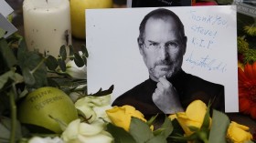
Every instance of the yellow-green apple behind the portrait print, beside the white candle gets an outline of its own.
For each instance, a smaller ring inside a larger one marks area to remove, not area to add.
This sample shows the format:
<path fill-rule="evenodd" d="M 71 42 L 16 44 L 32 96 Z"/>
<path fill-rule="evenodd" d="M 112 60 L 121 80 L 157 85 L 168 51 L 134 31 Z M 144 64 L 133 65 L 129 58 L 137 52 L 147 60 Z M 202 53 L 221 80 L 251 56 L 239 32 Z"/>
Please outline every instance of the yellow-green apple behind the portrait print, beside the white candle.
<path fill-rule="evenodd" d="M 72 36 L 85 38 L 85 9 L 111 7 L 112 0 L 70 0 Z"/>

